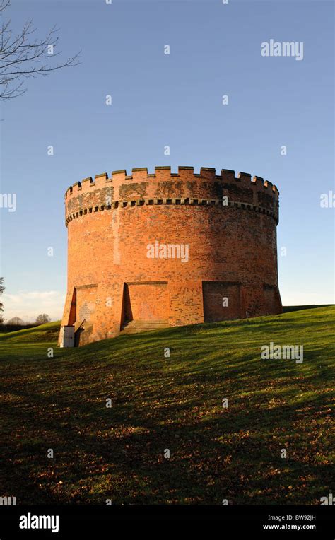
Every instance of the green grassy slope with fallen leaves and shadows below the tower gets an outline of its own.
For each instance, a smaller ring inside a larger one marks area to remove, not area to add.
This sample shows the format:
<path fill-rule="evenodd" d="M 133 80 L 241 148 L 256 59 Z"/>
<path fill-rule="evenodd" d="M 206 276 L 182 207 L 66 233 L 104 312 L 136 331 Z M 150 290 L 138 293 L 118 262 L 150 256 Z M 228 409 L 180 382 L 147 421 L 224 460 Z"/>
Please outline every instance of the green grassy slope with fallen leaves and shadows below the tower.
<path fill-rule="evenodd" d="M 319 504 L 334 493 L 334 315 L 322 307 L 76 349 L 57 348 L 57 323 L 1 334 L 0 495 Z M 303 363 L 261 360 L 270 341 L 303 344 Z"/>

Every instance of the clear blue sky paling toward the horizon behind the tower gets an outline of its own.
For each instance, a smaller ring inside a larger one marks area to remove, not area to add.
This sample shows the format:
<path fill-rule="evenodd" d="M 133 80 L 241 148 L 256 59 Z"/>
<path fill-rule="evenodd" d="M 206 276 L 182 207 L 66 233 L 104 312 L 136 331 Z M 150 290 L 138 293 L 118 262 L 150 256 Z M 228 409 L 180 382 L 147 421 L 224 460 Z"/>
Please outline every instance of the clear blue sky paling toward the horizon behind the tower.
<path fill-rule="evenodd" d="M 332 1 L 11 0 L 7 18 L 14 33 L 33 18 L 37 37 L 56 25 L 59 60 L 81 64 L 1 102 L 1 194 L 16 194 L 0 208 L 5 319 L 61 318 L 66 189 L 158 165 L 276 184 L 283 305 L 334 303 Z M 302 43 L 302 59 L 262 56 L 270 40 Z"/>

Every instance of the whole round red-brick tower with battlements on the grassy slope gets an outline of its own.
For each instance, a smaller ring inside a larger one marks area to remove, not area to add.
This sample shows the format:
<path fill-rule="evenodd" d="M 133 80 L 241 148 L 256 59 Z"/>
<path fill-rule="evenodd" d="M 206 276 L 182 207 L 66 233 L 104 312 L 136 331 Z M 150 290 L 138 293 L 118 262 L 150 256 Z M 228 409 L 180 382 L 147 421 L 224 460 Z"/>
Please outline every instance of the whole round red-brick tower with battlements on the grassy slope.
<path fill-rule="evenodd" d="M 146 168 L 67 189 L 62 326 L 75 343 L 282 311 L 278 190 L 232 170 Z"/>

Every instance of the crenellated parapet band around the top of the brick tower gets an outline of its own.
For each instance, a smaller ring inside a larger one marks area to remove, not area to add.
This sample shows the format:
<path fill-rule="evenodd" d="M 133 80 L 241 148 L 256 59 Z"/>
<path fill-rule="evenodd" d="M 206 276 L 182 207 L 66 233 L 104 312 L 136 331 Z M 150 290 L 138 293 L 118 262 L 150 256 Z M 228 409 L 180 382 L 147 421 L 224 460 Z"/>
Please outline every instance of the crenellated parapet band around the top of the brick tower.
<path fill-rule="evenodd" d="M 126 170 L 115 170 L 76 182 L 65 193 L 66 225 L 88 213 L 128 206 L 147 204 L 187 204 L 237 206 L 266 213 L 278 223 L 278 189 L 263 178 L 222 169 L 217 175 L 214 168 L 155 167 L 153 174 L 147 168 L 135 168 L 131 175 Z"/>

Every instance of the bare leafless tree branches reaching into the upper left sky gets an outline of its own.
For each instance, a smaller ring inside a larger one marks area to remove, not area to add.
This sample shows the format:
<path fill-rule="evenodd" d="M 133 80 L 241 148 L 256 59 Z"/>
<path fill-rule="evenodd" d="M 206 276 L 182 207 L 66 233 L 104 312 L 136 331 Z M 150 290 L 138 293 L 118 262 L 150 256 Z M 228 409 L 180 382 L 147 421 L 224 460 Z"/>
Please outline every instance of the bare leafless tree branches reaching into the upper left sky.
<path fill-rule="evenodd" d="M 0 100 L 17 98 L 27 90 L 25 79 L 47 75 L 63 67 L 79 64 L 79 53 L 66 61 L 53 64 L 61 52 L 54 52 L 59 30 L 53 27 L 44 39 L 35 37 L 33 20 L 28 20 L 17 35 L 11 30 L 11 20 L 4 22 L 3 11 L 11 0 L 0 0 Z"/>

